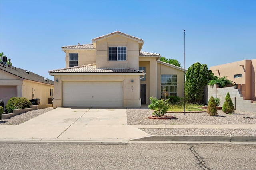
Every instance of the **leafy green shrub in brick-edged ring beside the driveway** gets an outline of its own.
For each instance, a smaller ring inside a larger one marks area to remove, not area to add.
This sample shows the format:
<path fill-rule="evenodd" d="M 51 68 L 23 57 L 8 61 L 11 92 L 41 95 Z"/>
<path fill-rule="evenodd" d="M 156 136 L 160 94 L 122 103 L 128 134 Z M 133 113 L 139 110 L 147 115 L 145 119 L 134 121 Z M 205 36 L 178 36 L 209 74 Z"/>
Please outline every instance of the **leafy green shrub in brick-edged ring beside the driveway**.
<path fill-rule="evenodd" d="M 156 115 L 157 117 L 163 117 L 169 109 L 169 99 L 164 100 L 150 97 L 150 101 L 151 104 L 148 105 L 148 108 L 154 110 L 153 115 Z"/>

